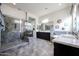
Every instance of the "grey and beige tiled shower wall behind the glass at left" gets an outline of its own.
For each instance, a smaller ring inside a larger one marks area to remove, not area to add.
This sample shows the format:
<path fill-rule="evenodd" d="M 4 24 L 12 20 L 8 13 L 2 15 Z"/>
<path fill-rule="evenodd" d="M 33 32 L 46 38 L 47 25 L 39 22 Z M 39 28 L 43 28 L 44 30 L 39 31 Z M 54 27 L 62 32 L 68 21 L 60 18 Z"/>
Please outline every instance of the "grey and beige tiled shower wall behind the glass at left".
<path fill-rule="evenodd" d="M 1 32 L 2 45 L 20 41 L 20 25 L 16 25 L 15 28 L 14 20 L 16 19 L 7 16 L 4 17 L 5 31 Z"/>

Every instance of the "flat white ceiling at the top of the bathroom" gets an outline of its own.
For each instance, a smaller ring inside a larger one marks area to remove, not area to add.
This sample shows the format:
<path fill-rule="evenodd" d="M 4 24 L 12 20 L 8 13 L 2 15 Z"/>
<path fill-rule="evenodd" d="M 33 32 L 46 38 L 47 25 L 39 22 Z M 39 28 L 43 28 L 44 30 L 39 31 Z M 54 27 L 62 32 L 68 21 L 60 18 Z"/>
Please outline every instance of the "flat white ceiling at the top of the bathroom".
<path fill-rule="evenodd" d="M 16 3 L 15 5 L 17 8 L 30 12 L 37 17 L 44 16 L 51 12 L 55 12 L 57 10 L 61 10 L 68 6 L 71 6 L 69 3 Z"/>

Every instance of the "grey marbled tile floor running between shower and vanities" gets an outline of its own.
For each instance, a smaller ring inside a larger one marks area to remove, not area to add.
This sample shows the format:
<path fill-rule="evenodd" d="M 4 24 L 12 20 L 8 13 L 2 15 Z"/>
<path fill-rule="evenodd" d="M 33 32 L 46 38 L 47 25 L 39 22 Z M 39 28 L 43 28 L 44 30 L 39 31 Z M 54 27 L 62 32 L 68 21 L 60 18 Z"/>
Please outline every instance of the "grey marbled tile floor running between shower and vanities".
<path fill-rule="evenodd" d="M 54 53 L 53 48 L 54 48 L 53 43 L 49 41 L 30 37 L 29 44 L 24 44 L 19 47 L 5 50 L 2 53 L 0 53 L 0 55 L 1 56 L 53 56 Z"/>

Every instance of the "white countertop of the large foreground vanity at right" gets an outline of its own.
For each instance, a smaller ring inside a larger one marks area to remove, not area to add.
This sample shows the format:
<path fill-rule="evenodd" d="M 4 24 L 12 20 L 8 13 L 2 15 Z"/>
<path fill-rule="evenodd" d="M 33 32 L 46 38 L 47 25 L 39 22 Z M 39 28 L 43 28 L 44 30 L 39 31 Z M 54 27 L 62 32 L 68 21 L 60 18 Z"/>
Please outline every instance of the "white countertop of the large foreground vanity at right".
<path fill-rule="evenodd" d="M 76 39 L 73 35 L 60 35 L 54 37 L 55 39 L 53 39 L 52 42 L 79 48 L 79 39 Z"/>

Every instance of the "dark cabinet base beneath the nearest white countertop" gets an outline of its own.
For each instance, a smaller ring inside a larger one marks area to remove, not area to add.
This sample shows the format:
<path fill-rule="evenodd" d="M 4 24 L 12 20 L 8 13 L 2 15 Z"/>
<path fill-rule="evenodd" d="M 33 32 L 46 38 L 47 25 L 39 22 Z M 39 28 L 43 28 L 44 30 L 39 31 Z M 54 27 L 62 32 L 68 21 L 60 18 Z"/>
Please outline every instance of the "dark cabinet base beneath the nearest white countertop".
<path fill-rule="evenodd" d="M 54 42 L 54 56 L 79 56 L 79 48 Z"/>

